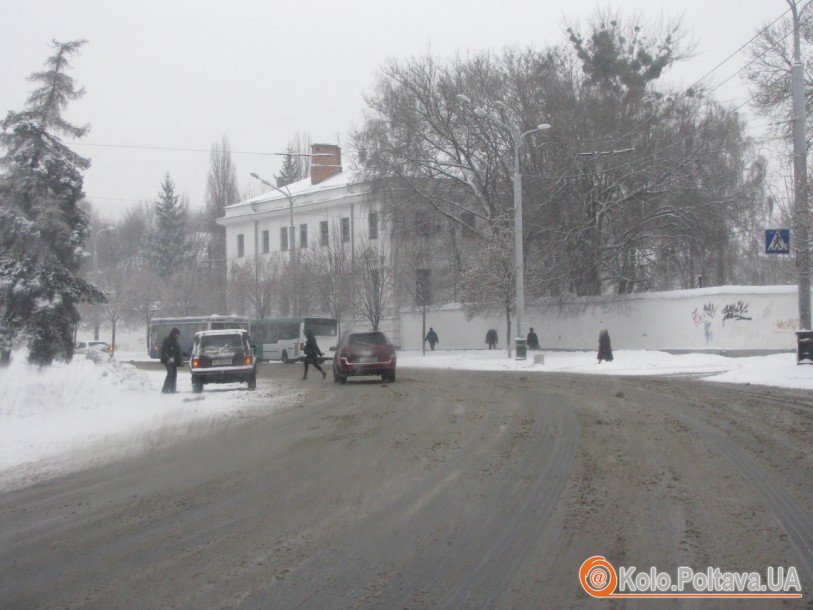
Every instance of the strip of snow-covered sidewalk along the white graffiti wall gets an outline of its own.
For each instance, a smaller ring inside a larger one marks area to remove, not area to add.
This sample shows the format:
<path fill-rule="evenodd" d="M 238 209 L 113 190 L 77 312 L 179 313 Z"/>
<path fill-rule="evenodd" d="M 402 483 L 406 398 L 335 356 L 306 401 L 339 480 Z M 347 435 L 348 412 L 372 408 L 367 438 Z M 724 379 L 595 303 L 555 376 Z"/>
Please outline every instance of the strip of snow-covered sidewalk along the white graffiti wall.
<path fill-rule="evenodd" d="M 536 354 L 544 364 L 535 364 Z M 405 351 L 398 366 L 476 371 L 538 371 L 589 375 L 682 375 L 707 381 L 813 389 L 813 366 L 797 365 L 796 354 L 730 358 L 716 354 L 669 354 L 655 350 L 613 350 L 612 362 L 596 361 L 596 352 L 529 352 L 527 360 L 502 350 Z"/>

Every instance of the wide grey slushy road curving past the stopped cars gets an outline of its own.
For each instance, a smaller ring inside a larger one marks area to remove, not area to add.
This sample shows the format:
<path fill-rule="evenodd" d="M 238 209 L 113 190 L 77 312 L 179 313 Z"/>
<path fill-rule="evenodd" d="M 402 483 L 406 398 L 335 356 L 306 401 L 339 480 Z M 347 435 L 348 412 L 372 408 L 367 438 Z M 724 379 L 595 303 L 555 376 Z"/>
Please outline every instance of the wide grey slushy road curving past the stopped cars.
<path fill-rule="evenodd" d="M 258 392 L 273 384 L 290 404 L 0 495 L 0 605 L 581 607 L 601 602 L 579 565 L 603 554 L 795 566 L 805 599 L 791 607 L 810 607 L 809 392 L 266 372 Z"/>

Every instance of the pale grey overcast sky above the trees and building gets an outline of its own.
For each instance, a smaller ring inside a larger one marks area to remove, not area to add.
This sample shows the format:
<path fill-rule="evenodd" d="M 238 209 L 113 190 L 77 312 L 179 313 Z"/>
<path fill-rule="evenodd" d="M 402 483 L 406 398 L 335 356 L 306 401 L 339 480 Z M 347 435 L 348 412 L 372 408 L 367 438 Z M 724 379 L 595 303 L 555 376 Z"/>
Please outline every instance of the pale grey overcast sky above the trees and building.
<path fill-rule="evenodd" d="M 284 151 L 297 131 L 346 144 L 385 59 L 558 44 L 566 24 L 608 6 L 653 23 L 682 16 L 695 56 L 670 78 L 684 85 L 788 9 L 784 0 L 3 0 L 0 112 L 23 107 L 51 39 L 87 39 L 71 72 L 87 92 L 67 116 L 91 125 L 73 147 L 92 160 L 88 198 L 116 216 L 153 201 L 169 172 L 197 207 L 208 150 L 223 135 L 243 191 L 250 172 L 270 179 L 279 168 L 279 158 L 252 153 Z M 706 84 L 743 64 L 741 52 Z M 749 95 L 736 76 L 715 96 Z M 753 131 L 766 122 L 756 118 Z"/>

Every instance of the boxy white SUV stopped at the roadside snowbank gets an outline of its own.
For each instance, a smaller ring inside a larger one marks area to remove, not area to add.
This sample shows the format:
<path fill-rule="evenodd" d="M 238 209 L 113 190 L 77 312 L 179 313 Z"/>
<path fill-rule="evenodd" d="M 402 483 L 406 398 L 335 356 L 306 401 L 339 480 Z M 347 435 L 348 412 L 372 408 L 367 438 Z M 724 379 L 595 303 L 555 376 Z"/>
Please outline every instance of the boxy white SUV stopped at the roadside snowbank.
<path fill-rule="evenodd" d="M 248 342 L 248 332 L 228 329 L 195 333 L 189 371 L 195 393 L 202 392 L 207 383 L 245 382 L 249 390 L 255 390 L 257 361 Z"/>

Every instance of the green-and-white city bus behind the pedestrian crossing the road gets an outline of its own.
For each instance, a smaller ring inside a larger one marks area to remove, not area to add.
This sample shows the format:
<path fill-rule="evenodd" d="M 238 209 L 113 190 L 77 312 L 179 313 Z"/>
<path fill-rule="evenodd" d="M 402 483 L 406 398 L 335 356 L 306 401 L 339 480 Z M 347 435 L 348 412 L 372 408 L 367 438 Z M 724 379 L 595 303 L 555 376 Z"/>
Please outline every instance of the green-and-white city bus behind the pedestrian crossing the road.
<path fill-rule="evenodd" d="M 257 360 L 299 362 L 305 359 L 305 333 L 311 331 L 324 358 L 333 358 L 339 337 L 336 318 L 263 318 L 251 321 Z"/>

